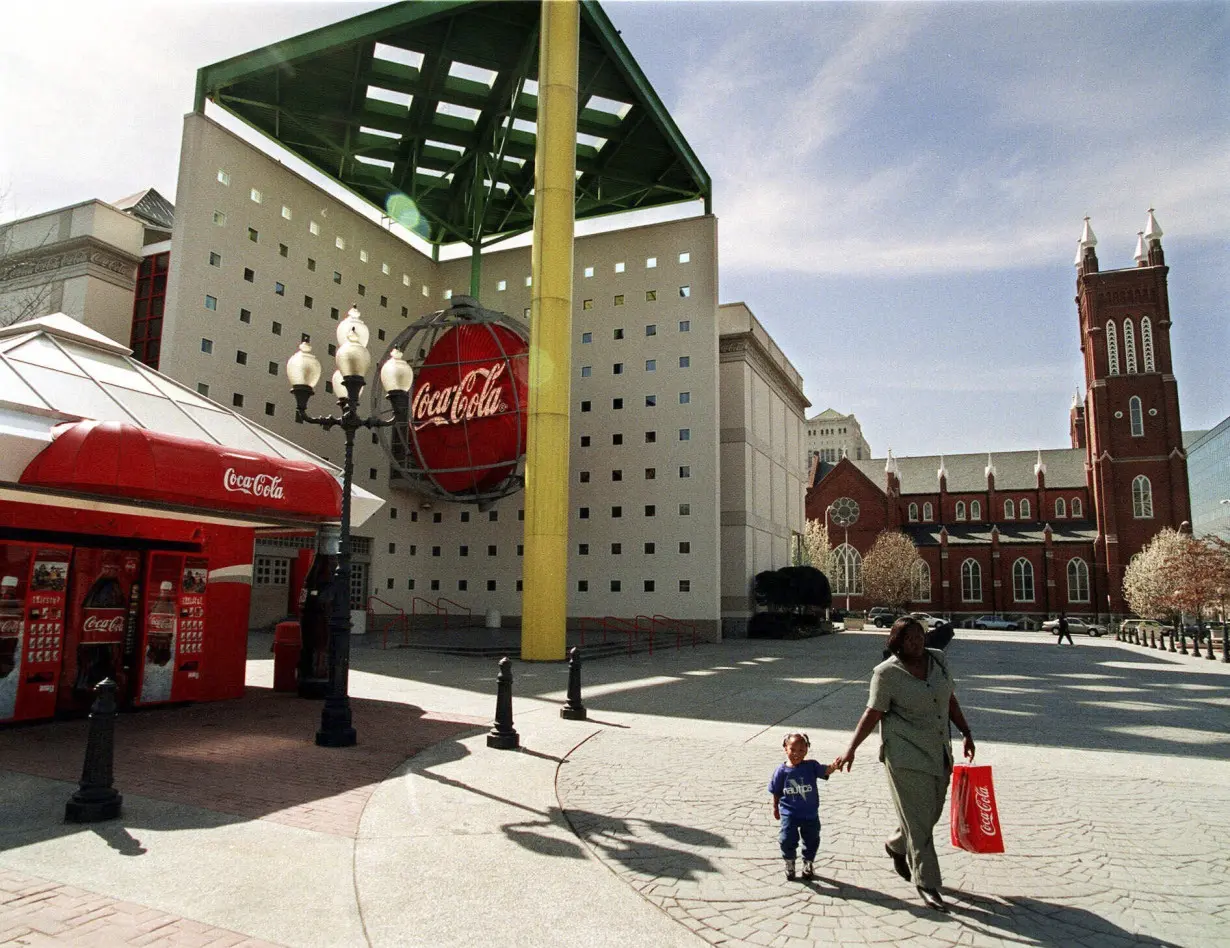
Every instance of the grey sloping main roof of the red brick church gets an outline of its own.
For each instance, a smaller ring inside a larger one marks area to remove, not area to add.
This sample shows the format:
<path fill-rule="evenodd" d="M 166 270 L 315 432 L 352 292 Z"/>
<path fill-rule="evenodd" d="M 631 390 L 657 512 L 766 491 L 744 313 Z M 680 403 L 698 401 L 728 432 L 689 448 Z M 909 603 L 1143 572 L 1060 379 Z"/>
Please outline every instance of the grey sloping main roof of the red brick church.
<path fill-rule="evenodd" d="M 1027 491 L 1037 487 L 1038 481 L 1033 466 L 1038 461 L 1038 451 L 993 452 L 995 462 L 996 491 Z M 1042 461 L 1047 466 L 1047 487 L 1066 488 L 1085 487 L 1085 450 L 1082 448 L 1057 448 L 1044 450 Z M 946 454 L 943 466 L 948 472 L 948 492 L 986 489 L 985 454 Z M 935 493 L 940 489 L 941 455 L 929 454 L 918 457 L 894 457 L 899 471 L 903 494 Z M 862 471 L 876 484 L 884 483 L 884 457 L 872 457 L 862 461 L 850 459 L 850 464 Z M 823 476 L 823 472 L 822 472 Z"/>

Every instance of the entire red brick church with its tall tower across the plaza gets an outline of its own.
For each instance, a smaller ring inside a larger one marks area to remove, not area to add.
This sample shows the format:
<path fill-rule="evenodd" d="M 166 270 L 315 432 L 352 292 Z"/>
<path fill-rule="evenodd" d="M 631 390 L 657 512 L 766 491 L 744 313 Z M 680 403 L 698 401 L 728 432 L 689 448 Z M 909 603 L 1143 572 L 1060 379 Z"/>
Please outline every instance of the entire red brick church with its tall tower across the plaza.
<path fill-rule="evenodd" d="M 1103 272 L 1085 219 L 1085 401 L 1073 398 L 1071 448 L 813 462 L 807 516 L 828 520 L 835 596 L 876 605 L 861 595 L 862 557 L 879 531 L 899 529 L 922 557 L 914 610 L 957 621 L 1129 611 L 1128 561 L 1192 516 L 1161 235 L 1150 209 L 1137 266 Z"/>

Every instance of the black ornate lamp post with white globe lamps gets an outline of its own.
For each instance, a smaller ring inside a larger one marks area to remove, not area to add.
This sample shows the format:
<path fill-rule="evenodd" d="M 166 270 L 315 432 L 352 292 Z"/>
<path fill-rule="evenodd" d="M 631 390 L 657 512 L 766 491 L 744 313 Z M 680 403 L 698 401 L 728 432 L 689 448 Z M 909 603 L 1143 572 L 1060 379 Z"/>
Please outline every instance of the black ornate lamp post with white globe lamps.
<path fill-rule="evenodd" d="M 311 346 L 299 343 L 299 350 L 287 360 L 287 379 L 295 396 L 295 421 L 319 424 L 326 432 L 341 425 L 346 433 L 346 461 L 342 465 L 342 534 L 333 583 L 333 610 L 328 620 L 328 691 L 320 716 L 316 743 L 322 748 L 348 748 L 355 743 L 351 723 L 351 487 L 354 481 L 354 433 L 359 428 L 403 427 L 410 422 L 410 386 L 415 373 L 399 349 L 392 349 L 380 366 L 380 384 L 392 407 L 392 417 L 359 416 L 359 396 L 371 368 L 368 352 L 368 327 L 355 307 L 337 326 L 337 355 L 333 360 L 333 395 L 338 416 L 310 416 L 308 402 L 316 392 L 321 366 Z"/>

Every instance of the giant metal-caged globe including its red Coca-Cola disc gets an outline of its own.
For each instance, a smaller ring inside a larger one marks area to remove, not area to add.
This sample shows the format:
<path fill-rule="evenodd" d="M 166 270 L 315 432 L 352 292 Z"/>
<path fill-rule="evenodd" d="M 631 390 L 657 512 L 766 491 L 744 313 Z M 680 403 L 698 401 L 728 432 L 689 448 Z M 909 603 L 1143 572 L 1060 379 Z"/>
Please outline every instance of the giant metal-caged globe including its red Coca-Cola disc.
<path fill-rule="evenodd" d="M 389 352 L 395 348 L 415 369 L 408 427 L 380 429 L 395 482 L 474 503 L 520 489 L 529 392 L 524 330 L 458 296 L 406 328 Z M 376 384 L 374 407 L 383 395 Z"/>

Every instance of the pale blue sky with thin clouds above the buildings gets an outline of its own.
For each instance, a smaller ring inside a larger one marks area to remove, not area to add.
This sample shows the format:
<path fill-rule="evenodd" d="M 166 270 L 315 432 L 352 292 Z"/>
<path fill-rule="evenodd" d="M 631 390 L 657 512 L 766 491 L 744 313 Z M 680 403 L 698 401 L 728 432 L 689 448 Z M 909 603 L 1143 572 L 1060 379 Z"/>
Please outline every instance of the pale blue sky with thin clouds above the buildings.
<path fill-rule="evenodd" d="M 175 197 L 196 70 L 364 2 L 6 9 L 0 220 Z M 1230 414 L 1230 2 L 604 9 L 713 180 L 720 295 L 876 456 L 1069 444 L 1073 258 L 1165 231 L 1184 429 Z"/>

